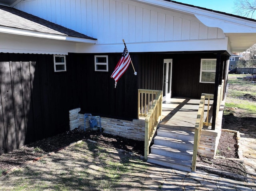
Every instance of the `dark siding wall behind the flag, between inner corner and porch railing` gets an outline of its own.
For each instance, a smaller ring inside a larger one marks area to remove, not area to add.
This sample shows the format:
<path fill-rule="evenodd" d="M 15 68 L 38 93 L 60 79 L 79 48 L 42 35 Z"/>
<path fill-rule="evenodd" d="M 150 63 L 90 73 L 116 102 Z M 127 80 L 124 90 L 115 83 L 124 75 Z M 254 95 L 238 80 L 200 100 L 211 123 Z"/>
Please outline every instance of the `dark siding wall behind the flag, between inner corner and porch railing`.
<path fill-rule="evenodd" d="M 98 54 L 97 54 L 98 55 Z M 74 108 L 95 115 L 132 120 L 137 117 L 137 78 L 128 67 L 115 88 L 110 78 L 121 54 L 108 55 L 109 71 L 94 71 L 94 54 L 69 54 L 68 79 Z M 71 84 L 72 83 L 72 84 Z"/>

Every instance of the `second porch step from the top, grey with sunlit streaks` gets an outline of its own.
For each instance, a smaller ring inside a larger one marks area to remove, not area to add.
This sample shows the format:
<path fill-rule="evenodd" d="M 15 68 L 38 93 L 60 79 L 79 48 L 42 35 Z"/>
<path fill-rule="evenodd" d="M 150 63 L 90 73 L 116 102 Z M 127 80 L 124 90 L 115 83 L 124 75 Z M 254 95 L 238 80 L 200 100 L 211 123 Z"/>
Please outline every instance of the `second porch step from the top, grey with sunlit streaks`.
<path fill-rule="evenodd" d="M 156 136 L 154 138 L 154 144 L 171 147 L 171 148 L 182 148 L 186 150 L 193 150 L 194 141 L 191 140 L 180 140 L 175 138 Z"/>

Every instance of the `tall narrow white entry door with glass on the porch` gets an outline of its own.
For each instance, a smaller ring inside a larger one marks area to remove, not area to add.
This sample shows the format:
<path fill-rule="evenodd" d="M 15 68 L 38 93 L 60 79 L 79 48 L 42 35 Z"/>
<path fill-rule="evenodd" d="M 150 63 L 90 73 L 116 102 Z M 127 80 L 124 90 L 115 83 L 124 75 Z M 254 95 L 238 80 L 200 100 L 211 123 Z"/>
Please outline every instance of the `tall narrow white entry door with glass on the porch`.
<path fill-rule="evenodd" d="M 163 74 L 163 102 L 171 98 L 172 94 L 172 59 L 164 59 Z"/>

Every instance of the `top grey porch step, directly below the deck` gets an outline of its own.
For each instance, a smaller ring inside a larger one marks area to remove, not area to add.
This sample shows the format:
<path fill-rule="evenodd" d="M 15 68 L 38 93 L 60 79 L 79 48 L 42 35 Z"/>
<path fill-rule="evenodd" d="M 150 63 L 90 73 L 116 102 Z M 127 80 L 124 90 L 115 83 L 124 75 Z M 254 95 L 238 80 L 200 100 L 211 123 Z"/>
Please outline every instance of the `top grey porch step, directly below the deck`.
<path fill-rule="evenodd" d="M 174 130 L 170 128 L 160 127 L 157 129 L 157 135 L 162 137 L 176 138 L 180 140 L 194 140 L 195 132 L 184 131 L 184 130 Z"/>

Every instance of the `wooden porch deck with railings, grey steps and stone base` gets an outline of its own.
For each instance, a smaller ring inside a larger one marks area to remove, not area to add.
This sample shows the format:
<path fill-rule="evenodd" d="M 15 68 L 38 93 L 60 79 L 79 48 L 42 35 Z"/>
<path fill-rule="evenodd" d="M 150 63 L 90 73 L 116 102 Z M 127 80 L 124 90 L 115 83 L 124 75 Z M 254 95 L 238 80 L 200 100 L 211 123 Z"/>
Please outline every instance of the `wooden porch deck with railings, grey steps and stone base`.
<path fill-rule="evenodd" d="M 195 171 L 197 154 L 214 158 L 221 132 L 223 83 L 218 88 L 214 129 L 212 94 L 202 94 L 201 99 L 175 97 L 162 102 L 162 91 L 139 90 L 138 98 L 139 118 L 145 118 L 145 159 Z"/>

